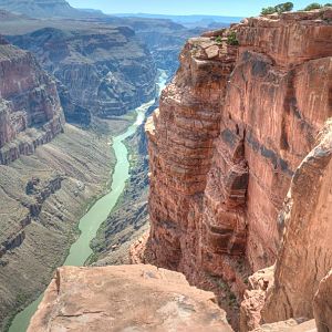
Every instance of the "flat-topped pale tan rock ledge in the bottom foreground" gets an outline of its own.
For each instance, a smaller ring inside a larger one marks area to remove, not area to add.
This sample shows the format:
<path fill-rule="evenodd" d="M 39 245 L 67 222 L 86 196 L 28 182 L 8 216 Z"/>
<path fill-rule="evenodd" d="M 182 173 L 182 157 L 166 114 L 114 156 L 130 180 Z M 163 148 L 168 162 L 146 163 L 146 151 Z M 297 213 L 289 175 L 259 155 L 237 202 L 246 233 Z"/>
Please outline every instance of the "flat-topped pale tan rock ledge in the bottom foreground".
<path fill-rule="evenodd" d="M 28 329 L 53 330 L 232 331 L 212 293 L 152 266 L 58 269 Z"/>

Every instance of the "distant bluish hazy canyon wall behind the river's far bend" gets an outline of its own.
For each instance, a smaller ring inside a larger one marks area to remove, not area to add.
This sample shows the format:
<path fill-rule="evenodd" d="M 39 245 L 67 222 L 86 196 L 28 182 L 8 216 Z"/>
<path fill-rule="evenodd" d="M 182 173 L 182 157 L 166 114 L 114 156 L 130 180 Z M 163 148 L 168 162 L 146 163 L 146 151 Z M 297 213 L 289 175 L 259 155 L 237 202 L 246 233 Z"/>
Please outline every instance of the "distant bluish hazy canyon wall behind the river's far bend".
<path fill-rule="evenodd" d="M 84 110 L 100 117 L 122 115 L 155 96 L 154 61 L 129 28 L 64 25 L 9 39 L 56 77 L 68 120 L 77 122 Z"/>

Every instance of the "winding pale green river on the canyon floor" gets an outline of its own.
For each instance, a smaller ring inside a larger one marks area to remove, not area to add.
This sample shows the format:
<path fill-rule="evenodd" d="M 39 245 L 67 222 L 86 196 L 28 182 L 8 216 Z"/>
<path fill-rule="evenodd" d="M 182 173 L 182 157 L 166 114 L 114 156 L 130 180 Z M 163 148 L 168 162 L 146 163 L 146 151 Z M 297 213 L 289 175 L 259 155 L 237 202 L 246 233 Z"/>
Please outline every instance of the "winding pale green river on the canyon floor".
<path fill-rule="evenodd" d="M 165 87 L 167 74 L 159 70 L 159 79 L 157 83 L 158 94 Z M 118 136 L 113 137 L 113 149 L 116 157 L 116 165 L 112 178 L 112 187 L 108 194 L 100 198 L 91 209 L 81 218 L 79 229 L 81 235 L 72 245 L 64 266 L 82 267 L 86 259 L 93 253 L 90 242 L 95 238 L 101 225 L 106 220 L 113 207 L 116 205 L 118 197 L 124 190 L 125 183 L 129 177 L 128 152 L 123 141 L 133 135 L 137 127 L 144 122 L 146 111 L 154 104 L 155 100 L 137 107 L 136 121 L 127 131 Z M 38 309 L 43 298 L 43 293 L 23 311 L 19 312 L 12 321 L 9 332 L 25 332 L 30 319 Z"/>

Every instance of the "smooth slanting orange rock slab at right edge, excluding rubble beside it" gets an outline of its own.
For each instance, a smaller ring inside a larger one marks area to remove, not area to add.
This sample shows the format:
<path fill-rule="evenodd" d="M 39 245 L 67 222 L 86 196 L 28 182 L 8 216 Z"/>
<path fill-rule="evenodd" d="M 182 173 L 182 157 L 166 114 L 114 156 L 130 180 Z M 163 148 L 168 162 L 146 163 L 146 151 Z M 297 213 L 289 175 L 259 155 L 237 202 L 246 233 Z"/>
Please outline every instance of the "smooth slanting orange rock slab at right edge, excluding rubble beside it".
<path fill-rule="evenodd" d="M 274 286 L 262 312 L 264 321 L 313 315 L 314 294 L 332 267 L 331 188 L 332 120 L 292 179 L 282 211 L 286 232 L 276 264 Z M 325 281 L 326 284 L 329 282 Z M 320 288 L 320 298 L 326 298 L 328 310 L 331 293 L 324 291 L 328 287 Z M 323 317 L 324 305 L 317 307 L 317 315 Z M 324 320 L 319 321 L 323 323 Z"/>

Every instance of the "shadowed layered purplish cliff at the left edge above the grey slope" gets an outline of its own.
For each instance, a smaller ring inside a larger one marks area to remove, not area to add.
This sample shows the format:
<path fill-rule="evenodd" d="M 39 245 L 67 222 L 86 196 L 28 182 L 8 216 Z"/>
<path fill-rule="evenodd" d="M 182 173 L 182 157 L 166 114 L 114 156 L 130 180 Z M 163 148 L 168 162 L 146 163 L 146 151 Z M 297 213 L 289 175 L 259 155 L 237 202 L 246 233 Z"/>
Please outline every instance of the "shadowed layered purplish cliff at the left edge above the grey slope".
<path fill-rule="evenodd" d="M 55 83 L 30 53 L 0 39 L 0 164 L 32 154 L 63 123 Z"/>

